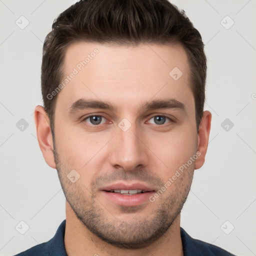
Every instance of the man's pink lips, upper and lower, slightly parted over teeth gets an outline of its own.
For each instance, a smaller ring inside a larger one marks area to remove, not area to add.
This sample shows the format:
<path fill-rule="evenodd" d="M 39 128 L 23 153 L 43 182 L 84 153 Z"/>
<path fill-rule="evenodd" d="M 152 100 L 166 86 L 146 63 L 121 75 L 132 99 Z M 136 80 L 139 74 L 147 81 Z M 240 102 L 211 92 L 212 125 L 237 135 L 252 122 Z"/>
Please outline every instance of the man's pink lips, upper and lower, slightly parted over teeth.
<path fill-rule="evenodd" d="M 124 189 L 124 190 L 133 190 L 133 189 L 141 189 L 145 190 L 143 193 L 137 193 L 137 194 L 121 194 L 121 193 L 115 193 L 110 192 L 112 189 Z M 105 187 L 100 188 L 100 191 L 102 192 L 103 196 L 115 204 L 123 205 L 123 206 L 138 206 L 144 202 L 149 202 L 149 196 L 152 195 L 155 191 L 155 189 L 150 188 L 146 184 L 143 183 L 114 183 Z"/>

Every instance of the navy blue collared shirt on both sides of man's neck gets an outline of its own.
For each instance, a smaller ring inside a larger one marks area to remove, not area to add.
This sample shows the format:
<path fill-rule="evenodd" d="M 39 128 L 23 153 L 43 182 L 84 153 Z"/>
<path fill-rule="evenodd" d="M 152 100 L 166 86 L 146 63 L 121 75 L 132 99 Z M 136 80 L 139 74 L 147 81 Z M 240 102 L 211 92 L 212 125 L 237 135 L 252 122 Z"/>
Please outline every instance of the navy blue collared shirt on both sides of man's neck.
<path fill-rule="evenodd" d="M 50 240 L 37 244 L 15 256 L 67 256 L 64 245 L 65 225 L 66 220 L 64 219 Z M 234 256 L 220 247 L 192 238 L 182 227 L 180 227 L 180 235 L 184 256 Z"/>

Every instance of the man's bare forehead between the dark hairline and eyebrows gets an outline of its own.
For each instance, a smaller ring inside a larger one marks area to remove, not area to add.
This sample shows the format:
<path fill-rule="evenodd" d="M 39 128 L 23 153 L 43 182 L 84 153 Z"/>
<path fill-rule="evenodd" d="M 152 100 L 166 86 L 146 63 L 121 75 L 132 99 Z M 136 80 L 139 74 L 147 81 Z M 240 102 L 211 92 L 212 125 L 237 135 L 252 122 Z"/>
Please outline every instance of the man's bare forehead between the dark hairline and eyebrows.
<path fill-rule="evenodd" d="M 79 98 L 134 106 L 134 111 L 141 102 L 170 97 L 193 106 L 188 58 L 179 44 L 76 42 L 66 49 L 63 70 L 57 101 L 66 110 Z"/>

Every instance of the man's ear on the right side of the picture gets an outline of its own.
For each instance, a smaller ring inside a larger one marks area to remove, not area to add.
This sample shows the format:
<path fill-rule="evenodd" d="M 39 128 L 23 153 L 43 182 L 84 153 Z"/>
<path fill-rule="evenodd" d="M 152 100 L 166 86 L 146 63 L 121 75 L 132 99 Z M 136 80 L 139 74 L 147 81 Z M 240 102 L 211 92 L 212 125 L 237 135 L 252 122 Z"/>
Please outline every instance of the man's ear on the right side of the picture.
<path fill-rule="evenodd" d="M 197 135 L 197 151 L 198 157 L 195 160 L 195 169 L 199 169 L 205 160 L 205 154 L 208 147 L 209 133 L 210 133 L 210 122 L 211 113 L 209 111 L 204 111 L 203 116 L 199 125 L 198 135 Z"/>

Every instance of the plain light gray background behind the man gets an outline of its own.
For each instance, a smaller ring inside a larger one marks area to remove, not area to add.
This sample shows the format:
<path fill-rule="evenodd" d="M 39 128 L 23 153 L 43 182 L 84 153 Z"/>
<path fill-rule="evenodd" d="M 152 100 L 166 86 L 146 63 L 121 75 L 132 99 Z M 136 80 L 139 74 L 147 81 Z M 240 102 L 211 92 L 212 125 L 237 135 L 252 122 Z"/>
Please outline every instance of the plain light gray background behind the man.
<path fill-rule="evenodd" d="M 49 240 L 65 218 L 65 198 L 39 149 L 33 110 L 42 105 L 42 42 L 53 19 L 74 2 L 0 0 L 0 255 Z M 206 161 L 195 170 L 181 226 L 234 254 L 256 255 L 256 1 L 172 2 L 206 44 L 205 110 L 212 113 Z M 15 23 L 21 15 L 29 21 L 24 29 Z M 28 123 L 23 131 L 16 127 L 21 118 Z M 234 124 L 228 131 L 221 126 L 226 118 Z M 21 220 L 29 226 L 23 235 L 15 228 Z"/>

